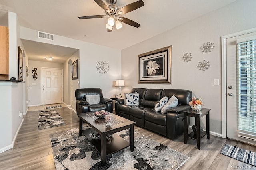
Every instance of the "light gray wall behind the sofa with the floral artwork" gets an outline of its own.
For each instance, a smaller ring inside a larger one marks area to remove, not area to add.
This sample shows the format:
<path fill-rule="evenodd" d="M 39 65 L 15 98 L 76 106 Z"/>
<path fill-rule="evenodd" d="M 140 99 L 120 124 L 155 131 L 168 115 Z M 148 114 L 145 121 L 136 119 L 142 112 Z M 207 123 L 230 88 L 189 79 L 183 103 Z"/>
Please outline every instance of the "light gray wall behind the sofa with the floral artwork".
<path fill-rule="evenodd" d="M 126 86 L 122 91 L 128 92 L 133 87 L 189 89 L 197 97 L 202 97 L 203 107 L 212 109 L 210 131 L 220 135 L 222 133 L 221 36 L 256 27 L 255 7 L 255 0 L 239 0 L 123 49 L 122 79 L 126 82 Z M 168 22 L 171 20 L 172 18 Z M 213 42 L 215 45 L 210 53 L 203 53 L 200 50 L 206 42 Z M 169 45 L 172 45 L 172 84 L 138 84 L 138 55 Z M 192 61 L 187 63 L 182 60 L 185 53 L 192 53 Z M 203 60 L 209 61 L 211 65 L 206 71 L 197 68 L 198 63 Z M 214 79 L 219 79 L 220 85 L 214 85 Z M 202 120 L 205 128 L 205 119 Z"/>

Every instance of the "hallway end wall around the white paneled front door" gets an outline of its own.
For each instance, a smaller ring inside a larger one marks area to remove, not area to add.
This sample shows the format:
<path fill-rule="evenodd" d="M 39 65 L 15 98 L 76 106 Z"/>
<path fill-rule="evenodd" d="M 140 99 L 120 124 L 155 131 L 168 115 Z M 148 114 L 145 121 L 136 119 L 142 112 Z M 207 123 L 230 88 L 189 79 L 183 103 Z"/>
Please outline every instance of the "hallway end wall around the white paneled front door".
<path fill-rule="evenodd" d="M 29 103 L 28 106 L 35 106 L 35 105 L 41 105 L 41 67 L 47 67 L 47 68 L 58 68 L 63 69 L 62 63 L 52 63 L 52 62 L 42 62 L 42 61 L 28 61 L 28 69 L 29 69 L 29 89 L 28 90 L 28 99 Z M 32 70 L 34 68 L 37 68 L 37 79 L 34 80 L 32 77 Z M 36 83 L 36 85 L 32 85 L 32 83 Z"/>

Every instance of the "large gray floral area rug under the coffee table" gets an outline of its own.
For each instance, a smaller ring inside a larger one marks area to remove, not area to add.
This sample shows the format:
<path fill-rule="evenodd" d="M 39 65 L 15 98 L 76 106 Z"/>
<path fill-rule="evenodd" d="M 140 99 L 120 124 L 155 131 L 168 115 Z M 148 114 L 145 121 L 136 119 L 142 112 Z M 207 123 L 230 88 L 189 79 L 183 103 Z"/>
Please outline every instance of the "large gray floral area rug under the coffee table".
<path fill-rule="evenodd" d="M 56 170 L 176 170 L 189 158 L 134 132 L 134 152 L 128 147 L 109 155 L 106 166 L 102 167 L 100 153 L 78 133 L 79 130 L 74 128 L 50 134 Z M 117 134 L 129 142 L 129 131 Z"/>

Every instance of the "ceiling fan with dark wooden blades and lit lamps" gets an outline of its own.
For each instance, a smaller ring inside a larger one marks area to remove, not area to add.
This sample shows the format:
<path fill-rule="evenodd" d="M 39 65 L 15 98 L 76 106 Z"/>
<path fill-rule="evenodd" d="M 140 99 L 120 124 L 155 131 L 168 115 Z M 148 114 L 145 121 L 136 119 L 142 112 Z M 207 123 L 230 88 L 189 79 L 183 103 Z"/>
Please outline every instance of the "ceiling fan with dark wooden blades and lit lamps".
<path fill-rule="evenodd" d="M 116 6 L 117 0 L 109 0 L 111 5 L 106 5 L 102 0 L 94 0 L 102 9 L 105 10 L 106 15 L 92 15 L 92 16 L 80 16 L 79 19 L 90 19 L 90 18 L 108 18 L 108 22 L 106 24 L 106 28 L 108 32 L 111 32 L 114 28 L 114 25 L 116 25 L 116 29 L 122 28 L 121 22 L 128 24 L 130 26 L 139 27 L 140 24 L 138 24 L 135 21 L 132 21 L 128 18 L 124 18 L 120 15 L 126 14 L 128 12 L 131 12 L 133 10 L 136 10 L 142 6 L 144 6 L 144 2 L 142 0 L 133 2 L 131 4 L 128 4 L 122 8 L 119 8 Z"/>

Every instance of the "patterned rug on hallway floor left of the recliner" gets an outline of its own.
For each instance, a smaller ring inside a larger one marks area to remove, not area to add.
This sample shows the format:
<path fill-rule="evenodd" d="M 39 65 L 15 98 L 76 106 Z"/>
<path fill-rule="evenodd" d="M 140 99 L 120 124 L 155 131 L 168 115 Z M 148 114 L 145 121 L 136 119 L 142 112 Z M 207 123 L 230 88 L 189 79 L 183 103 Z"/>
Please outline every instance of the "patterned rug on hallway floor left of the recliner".
<path fill-rule="evenodd" d="M 38 130 L 65 125 L 57 110 L 47 110 L 39 112 Z"/>

